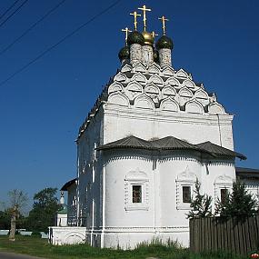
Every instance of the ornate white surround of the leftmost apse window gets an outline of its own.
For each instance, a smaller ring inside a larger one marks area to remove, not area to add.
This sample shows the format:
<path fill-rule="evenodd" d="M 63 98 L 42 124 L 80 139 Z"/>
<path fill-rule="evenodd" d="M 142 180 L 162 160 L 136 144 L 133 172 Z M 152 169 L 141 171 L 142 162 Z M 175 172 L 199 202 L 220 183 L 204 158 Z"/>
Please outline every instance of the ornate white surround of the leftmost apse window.
<path fill-rule="evenodd" d="M 142 203 L 133 203 L 133 186 L 141 185 Z M 125 175 L 125 210 L 145 210 L 149 208 L 149 179 L 147 174 L 136 168 Z"/>

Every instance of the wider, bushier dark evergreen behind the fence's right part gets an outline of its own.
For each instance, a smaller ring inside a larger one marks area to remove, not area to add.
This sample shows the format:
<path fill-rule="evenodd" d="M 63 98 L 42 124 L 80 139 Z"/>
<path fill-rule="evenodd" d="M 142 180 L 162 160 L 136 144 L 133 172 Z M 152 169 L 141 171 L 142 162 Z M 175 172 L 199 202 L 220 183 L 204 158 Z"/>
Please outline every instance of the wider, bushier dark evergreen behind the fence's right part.
<path fill-rule="evenodd" d="M 233 191 L 227 194 L 224 201 L 218 200 L 215 205 L 215 214 L 224 217 L 244 218 L 256 214 L 256 200 L 246 189 L 244 183 L 233 183 Z"/>

